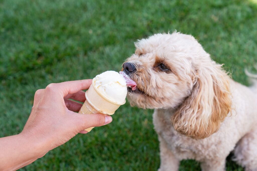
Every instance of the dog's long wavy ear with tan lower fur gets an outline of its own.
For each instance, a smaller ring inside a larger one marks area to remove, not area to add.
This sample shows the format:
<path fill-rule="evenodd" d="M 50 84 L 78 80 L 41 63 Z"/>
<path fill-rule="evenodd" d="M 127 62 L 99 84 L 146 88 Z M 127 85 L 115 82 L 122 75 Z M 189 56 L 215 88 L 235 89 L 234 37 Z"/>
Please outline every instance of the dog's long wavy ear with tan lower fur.
<path fill-rule="evenodd" d="M 172 116 L 179 133 L 194 139 L 209 137 L 230 112 L 229 77 L 221 66 L 212 61 L 194 72 L 191 94 Z"/>

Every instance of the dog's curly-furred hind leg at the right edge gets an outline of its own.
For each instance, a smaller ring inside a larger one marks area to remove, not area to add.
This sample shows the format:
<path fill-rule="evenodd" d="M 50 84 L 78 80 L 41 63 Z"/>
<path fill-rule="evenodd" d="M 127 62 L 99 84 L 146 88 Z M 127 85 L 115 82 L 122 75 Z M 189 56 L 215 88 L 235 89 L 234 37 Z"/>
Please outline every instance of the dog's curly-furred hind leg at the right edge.
<path fill-rule="evenodd" d="M 234 160 L 245 167 L 246 171 L 257 171 L 257 127 L 241 138 L 234 155 Z"/>

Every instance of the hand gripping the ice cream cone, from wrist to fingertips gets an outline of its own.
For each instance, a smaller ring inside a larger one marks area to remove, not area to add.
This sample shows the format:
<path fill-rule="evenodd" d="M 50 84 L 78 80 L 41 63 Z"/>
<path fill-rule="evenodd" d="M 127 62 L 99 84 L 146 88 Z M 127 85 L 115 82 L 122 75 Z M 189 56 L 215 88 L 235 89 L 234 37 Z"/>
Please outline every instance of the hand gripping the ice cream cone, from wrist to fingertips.
<path fill-rule="evenodd" d="M 42 156 L 76 134 L 87 133 L 86 128 L 112 122 L 109 115 L 76 113 L 82 104 L 69 98 L 85 102 L 82 90 L 88 89 L 91 83 L 91 79 L 52 83 L 36 91 L 31 114 L 21 135 L 38 140 Z"/>

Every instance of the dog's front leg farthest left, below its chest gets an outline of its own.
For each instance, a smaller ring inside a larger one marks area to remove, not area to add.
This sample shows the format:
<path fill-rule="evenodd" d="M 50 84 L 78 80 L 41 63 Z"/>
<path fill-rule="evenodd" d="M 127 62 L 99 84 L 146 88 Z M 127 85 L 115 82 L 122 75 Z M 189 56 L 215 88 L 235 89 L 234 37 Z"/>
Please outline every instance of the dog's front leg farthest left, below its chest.
<path fill-rule="evenodd" d="M 174 156 L 171 150 L 167 147 L 165 140 L 158 136 L 160 141 L 160 157 L 161 165 L 158 171 L 177 171 L 179 168 L 179 160 Z"/>

